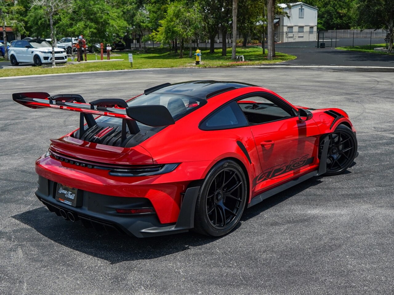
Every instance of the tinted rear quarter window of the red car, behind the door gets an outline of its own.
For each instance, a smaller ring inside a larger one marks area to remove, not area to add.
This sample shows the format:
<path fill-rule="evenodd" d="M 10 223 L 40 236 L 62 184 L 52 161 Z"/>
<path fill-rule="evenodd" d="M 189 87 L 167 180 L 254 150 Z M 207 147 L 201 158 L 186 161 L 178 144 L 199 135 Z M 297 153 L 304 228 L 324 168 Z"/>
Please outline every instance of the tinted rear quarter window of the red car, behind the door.
<path fill-rule="evenodd" d="M 220 130 L 249 125 L 235 101 L 221 107 L 204 119 L 200 124 L 202 130 Z"/>

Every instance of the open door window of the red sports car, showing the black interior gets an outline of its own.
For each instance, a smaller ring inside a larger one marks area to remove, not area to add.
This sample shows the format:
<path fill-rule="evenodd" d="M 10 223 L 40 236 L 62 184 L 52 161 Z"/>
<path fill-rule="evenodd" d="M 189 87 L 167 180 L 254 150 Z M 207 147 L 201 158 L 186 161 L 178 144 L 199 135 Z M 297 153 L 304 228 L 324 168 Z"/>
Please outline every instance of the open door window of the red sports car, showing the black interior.
<path fill-rule="evenodd" d="M 269 96 L 253 96 L 238 100 L 249 124 L 262 124 L 284 118 L 293 117 L 293 111 L 290 106 L 277 103 L 275 99 Z"/>

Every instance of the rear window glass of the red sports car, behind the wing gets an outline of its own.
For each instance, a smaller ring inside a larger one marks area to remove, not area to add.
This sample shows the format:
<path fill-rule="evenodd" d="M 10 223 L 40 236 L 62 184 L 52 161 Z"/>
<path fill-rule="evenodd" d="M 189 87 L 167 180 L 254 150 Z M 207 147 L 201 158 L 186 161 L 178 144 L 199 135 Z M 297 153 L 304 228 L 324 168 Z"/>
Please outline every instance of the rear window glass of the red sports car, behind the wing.
<path fill-rule="evenodd" d="M 141 94 L 127 103 L 129 107 L 134 107 L 137 105 L 164 105 L 170 112 L 171 116 L 174 118 L 174 121 L 177 121 L 187 114 L 190 114 L 204 104 L 206 104 L 206 100 L 201 98 L 170 93 Z M 101 116 L 97 119 L 97 122 L 120 125 L 121 119 Z M 149 129 L 154 129 L 154 127 L 149 127 L 139 122 L 137 122 L 137 124 L 144 129 L 147 129 L 147 127 Z"/>

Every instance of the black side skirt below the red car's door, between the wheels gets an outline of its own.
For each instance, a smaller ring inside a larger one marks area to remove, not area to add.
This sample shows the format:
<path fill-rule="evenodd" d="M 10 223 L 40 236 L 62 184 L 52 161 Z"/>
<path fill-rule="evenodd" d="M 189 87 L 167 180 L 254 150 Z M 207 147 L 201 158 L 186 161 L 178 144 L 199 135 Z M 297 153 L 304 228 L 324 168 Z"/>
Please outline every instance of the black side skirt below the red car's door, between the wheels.
<path fill-rule="evenodd" d="M 327 171 L 327 161 L 322 160 L 322 159 L 325 159 L 325 157 L 328 153 L 328 146 L 329 146 L 329 140 L 325 140 L 324 144 L 323 144 L 322 158 L 320 159 L 320 164 L 319 164 L 318 170 L 304 174 L 296 179 L 292 179 L 292 180 L 288 181 L 287 183 L 276 186 L 275 188 L 271 188 L 271 190 L 268 190 L 260 195 L 256 195 L 256 197 L 251 199 L 251 201 L 247 205 L 247 207 L 249 208 L 253 205 L 256 205 L 256 204 L 260 203 L 261 201 L 263 201 L 275 194 L 278 194 L 284 190 L 287 190 L 288 188 L 291 188 L 292 186 L 295 186 L 296 184 L 302 183 L 303 181 L 310 179 L 311 177 L 315 177 L 315 176 L 319 176 L 319 175 L 324 174 Z"/>

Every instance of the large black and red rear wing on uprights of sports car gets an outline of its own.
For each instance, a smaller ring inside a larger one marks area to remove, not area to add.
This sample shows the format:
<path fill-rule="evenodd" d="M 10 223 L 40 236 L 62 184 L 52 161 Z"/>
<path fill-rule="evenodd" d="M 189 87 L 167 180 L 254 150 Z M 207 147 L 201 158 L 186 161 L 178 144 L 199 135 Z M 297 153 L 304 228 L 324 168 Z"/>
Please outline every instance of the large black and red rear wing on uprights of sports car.
<path fill-rule="evenodd" d="M 89 127 L 96 124 L 93 116 L 108 116 L 122 119 L 122 138 L 126 138 L 126 125 L 131 134 L 137 134 L 136 123 L 160 127 L 175 124 L 173 117 L 164 105 L 140 105 L 128 107 L 122 99 L 109 98 L 86 103 L 79 94 L 57 94 L 46 92 L 21 92 L 12 94 L 12 99 L 32 109 L 52 108 L 80 112 L 80 132 L 84 134 L 85 121 Z"/>

